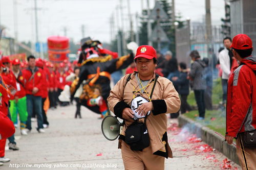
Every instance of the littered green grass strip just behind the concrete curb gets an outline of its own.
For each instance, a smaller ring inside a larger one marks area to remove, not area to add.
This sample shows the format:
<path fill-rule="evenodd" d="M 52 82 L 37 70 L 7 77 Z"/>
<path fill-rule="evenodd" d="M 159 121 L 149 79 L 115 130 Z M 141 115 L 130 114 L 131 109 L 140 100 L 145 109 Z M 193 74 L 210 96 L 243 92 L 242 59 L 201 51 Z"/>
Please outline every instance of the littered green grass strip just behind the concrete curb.
<path fill-rule="evenodd" d="M 221 110 L 206 110 L 204 120 L 196 119 L 198 116 L 197 110 L 190 111 L 183 115 L 225 136 L 226 117 Z"/>

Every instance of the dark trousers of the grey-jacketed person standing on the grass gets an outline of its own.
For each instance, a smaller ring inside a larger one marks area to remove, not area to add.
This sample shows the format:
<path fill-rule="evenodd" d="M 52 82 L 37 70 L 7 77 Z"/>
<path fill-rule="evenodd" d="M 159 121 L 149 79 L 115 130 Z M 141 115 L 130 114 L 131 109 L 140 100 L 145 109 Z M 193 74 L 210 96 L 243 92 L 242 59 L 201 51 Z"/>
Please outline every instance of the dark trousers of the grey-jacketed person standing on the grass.
<path fill-rule="evenodd" d="M 199 117 L 204 117 L 205 115 L 204 90 L 194 90 L 194 93 L 197 101 Z"/>

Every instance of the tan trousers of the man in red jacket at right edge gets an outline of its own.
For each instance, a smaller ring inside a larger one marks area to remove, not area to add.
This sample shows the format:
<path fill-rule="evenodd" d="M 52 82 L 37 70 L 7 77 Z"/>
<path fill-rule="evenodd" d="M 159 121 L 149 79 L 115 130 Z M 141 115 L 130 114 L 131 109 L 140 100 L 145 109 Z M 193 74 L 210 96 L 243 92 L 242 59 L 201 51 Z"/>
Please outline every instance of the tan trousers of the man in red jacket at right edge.
<path fill-rule="evenodd" d="M 256 148 L 244 148 L 241 135 L 238 135 L 236 139 L 237 143 L 237 155 L 240 165 L 243 170 L 255 170 L 256 169 Z M 244 151 L 242 151 L 244 150 Z"/>

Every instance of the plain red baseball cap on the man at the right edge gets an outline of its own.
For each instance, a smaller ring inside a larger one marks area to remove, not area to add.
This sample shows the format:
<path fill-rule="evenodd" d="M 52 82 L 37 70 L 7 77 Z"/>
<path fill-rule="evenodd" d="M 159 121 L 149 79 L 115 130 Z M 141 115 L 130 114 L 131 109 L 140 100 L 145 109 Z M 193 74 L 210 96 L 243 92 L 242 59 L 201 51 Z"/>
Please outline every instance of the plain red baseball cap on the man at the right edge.
<path fill-rule="evenodd" d="M 238 34 L 234 36 L 230 48 L 236 48 L 237 50 L 247 50 L 252 48 L 252 41 L 246 34 Z"/>

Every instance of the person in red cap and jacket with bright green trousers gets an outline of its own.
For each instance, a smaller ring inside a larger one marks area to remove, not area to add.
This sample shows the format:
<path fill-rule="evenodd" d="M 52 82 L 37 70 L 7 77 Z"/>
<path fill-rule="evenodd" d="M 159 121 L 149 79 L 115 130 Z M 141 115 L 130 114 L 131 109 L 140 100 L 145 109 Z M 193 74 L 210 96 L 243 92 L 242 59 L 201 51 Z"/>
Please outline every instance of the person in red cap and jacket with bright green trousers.
<path fill-rule="evenodd" d="M 28 118 L 27 112 L 27 98 L 26 91 L 24 88 L 25 79 L 20 70 L 20 61 L 15 59 L 12 61 L 12 70 L 16 79 L 17 92 L 14 94 L 14 100 L 10 100 L 10 113 L 12 122 L 17 125 L 17 113 L 19 114 L 20 120 L 20 133 L 22 135 L 27 135 L 26 122 Z"/>

